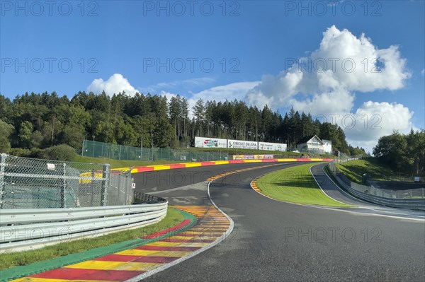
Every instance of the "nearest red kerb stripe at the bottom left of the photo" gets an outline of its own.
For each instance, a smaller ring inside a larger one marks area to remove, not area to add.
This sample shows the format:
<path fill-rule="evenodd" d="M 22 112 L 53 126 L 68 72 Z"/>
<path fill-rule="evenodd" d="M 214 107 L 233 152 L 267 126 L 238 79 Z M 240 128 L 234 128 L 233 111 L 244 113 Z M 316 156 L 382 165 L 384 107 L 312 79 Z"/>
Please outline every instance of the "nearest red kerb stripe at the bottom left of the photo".
<path fill-rule="evenodd" d="M 145 271 L 126 271 L 126 270 L 97 270 L 97 269 L 53 269 L 50 271 L 35 274 L 30 277 L 45 279 L 66 279 L 66 280 L 107 280 L 107 281 L 125 281 Z"/>

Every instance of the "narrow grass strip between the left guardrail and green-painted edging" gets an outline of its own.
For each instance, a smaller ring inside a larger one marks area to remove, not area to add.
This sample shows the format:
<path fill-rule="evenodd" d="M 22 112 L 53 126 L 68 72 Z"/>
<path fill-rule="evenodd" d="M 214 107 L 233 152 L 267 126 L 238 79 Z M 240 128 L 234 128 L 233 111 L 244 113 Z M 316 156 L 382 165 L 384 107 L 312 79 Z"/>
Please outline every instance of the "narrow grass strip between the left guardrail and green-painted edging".
<path fill-rule="evenodd" d="M 103 235 L 101 237 L 89 238 L 62 242 L 57 245 L 47 246 L 25 252 L 13 252 L 0 254 L 0 269 L 8 269 L 13 266 L 22 266 L 33 262 L 42 262 L 47 259 L 76 254 L 89 249 L 113 245 L 119 242 L 134 240 L 149 234 L 166 230 L 183 222 L 184 216 L 179 211 L 169 208 L 166 217 L 159 223 L 148 225 L 142 228 L 120 231 Z"/>

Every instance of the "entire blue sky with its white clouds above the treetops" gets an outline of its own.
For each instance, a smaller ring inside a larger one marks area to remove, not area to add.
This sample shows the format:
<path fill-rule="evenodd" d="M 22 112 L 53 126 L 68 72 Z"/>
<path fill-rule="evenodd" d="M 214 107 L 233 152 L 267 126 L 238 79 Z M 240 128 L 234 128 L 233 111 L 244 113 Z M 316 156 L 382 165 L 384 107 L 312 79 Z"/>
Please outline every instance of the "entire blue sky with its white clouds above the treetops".
<path fill-rule="evenodd" d="M 334 117 L 348 141 L 371 148 L 393 129 L 425 128 L 424 3 L 1 1 L 0 92 L 294 106 Z M 296 64 L 303 57 L 311 71 Z"/>

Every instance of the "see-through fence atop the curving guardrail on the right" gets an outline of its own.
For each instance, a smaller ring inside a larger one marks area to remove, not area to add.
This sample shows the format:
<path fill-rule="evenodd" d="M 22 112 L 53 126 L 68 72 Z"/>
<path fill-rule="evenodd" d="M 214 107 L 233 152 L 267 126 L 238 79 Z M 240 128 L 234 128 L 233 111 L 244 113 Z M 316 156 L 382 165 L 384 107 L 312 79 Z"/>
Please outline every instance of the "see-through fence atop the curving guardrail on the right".
<path fill-rule="evenodd" d="M 338 168 L 336 168 L 336 165 L 334 162 L 329 163 L 328 168 L 334 176 L 342 180 L 342 182 L 344 182 L 348 187 L 351 187 L 352 189 L 355 189 L 356 191 L 362 192 L 364 194 L 381 196 L 384 198 L 391 198 L 391 199 L 409 199 L 409 198 L 424 198 L 425 197 L 425 188 L 404 189 L 399 191 L 379 189 L 377 187 L 373 187 L 370 184 L 362 185 L 362 184 L 352 182 L 348 177 L 346 177 L 346 175 L 344 175 L 344 173 L 342 173 Z M 366 184 L 368 184 L 367 181 L 366 181 Z"/>

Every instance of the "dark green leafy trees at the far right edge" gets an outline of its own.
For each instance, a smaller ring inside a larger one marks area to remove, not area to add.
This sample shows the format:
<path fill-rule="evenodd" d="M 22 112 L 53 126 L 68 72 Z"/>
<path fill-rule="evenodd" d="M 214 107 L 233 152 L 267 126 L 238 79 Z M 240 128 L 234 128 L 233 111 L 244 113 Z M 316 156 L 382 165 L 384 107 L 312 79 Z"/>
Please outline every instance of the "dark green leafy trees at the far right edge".
<path fill-rule="evenodd" d="M 373 155 L 393 170 L 409 175 L 425 175 L 425 130 L 382 136 L 373 148 Z"/>

